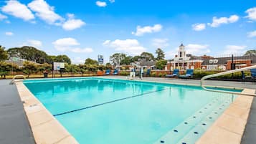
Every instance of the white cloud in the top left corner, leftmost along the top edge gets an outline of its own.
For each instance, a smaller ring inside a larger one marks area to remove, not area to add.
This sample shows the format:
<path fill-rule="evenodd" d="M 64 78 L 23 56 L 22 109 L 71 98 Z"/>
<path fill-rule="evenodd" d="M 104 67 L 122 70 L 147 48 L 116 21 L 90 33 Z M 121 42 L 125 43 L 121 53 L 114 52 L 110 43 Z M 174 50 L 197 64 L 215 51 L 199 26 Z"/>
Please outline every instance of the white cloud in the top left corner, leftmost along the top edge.
<path fill-rule="evenodd" d="M 25 21 L 34 19 L 34 14 L 32 14 L 32 11 L 30 11 L 26 5 L 21 4 L 16 0 L 6 1 L 6 5 L 3 6 L 1 10 L 6 14 L 24 19 Z"/>

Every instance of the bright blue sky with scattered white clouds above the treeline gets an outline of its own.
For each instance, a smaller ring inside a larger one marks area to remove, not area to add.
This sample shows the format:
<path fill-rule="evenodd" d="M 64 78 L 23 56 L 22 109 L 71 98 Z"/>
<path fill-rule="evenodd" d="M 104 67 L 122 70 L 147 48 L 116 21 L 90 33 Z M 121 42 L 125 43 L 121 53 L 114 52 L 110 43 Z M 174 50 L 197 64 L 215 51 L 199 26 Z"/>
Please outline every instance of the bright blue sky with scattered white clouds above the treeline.
<path fill-rule="evenodd" d="M 256 48 L 256 1 L 0 0 L 0 44 L 31 45 L 47 54 L 105 62 L 161 47 L 166 59 L 187 53 L 220 56 Z"/>

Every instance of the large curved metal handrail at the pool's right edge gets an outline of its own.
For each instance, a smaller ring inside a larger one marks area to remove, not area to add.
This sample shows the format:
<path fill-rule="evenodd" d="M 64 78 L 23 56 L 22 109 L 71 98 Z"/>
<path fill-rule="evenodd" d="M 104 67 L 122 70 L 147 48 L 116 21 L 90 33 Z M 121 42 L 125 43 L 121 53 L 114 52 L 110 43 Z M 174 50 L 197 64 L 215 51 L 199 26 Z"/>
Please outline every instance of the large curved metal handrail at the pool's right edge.
<path fill-rule="evenodd" d="M 250 66 L 250 67 L 244 67 L 244 68 L 241 68 L 241 69 L 229 70 L 227 72 L 219 72 L 219 73 L 213 74 L 213 75 L 204 76 L 200 80 L 200 85 L 204 90 L 207 90 L 207 91 L 224 92 L 224 93 L 235 94 L 235 95 L 247 95 L 247 96 L 256 97 L 256 94 L 250 94 L 250 93 L 244 93 L 244 92 L 243 93 L 242 92 L 230 92 L 230 91 L 224 91 L 224 90 L 211 90 L 211 89 L 208 89 L 207 87 L 204 87 L 204 80 L 207 80 L 207 79 L 212 78 L 212 77 L 219 77 L 219 76 L 222 76 L 222 75 L 232 74 L 234 72 L 242 72 L 242 71 L 249 70 L 249 69 L 256 69 L 256 65 Z"/>

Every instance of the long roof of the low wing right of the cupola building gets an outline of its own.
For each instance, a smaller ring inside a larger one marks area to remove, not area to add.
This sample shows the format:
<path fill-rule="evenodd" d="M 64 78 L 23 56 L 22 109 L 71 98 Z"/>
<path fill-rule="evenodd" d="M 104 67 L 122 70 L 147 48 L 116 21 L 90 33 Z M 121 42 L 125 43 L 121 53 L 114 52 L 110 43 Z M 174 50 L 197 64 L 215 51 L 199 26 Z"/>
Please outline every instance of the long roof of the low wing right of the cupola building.
<path fill-rule="evenodd" d="M 212 58 L 212 59 L 217 59 L 218 62 L 216 64 L 227 64 L 227 61 L 231 61 L 232 57 L 216 57 L 216 58 Z M 238 60 L 238 59 L 251 59 L 252 60 L 252 64 L 256 64 L 256 56 L 240 56 L 240 57 L 234 57 L 234 60 Z M 209 65 L 209 60 L 210 59 L 204 59 L 204 62 L 202 63 L 202 65 Z"/>

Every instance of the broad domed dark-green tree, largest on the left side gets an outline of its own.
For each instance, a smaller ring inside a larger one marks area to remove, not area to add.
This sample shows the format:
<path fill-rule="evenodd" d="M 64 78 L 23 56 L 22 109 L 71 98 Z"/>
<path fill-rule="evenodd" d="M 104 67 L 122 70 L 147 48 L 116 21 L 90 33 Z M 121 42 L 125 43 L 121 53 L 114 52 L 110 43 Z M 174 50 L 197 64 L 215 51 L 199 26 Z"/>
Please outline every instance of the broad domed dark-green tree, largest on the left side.
<path fill-rule="evenodd" d="M 19 57 L 29 61 L 44 63 L 47 60 L 47 54 L 35 47 L 14 47 L 7 50 L 10 57 Z"/>

